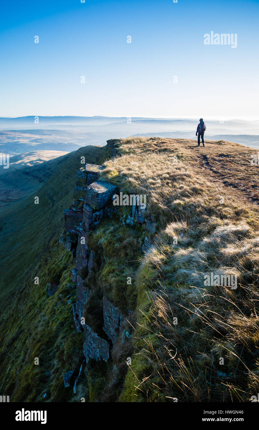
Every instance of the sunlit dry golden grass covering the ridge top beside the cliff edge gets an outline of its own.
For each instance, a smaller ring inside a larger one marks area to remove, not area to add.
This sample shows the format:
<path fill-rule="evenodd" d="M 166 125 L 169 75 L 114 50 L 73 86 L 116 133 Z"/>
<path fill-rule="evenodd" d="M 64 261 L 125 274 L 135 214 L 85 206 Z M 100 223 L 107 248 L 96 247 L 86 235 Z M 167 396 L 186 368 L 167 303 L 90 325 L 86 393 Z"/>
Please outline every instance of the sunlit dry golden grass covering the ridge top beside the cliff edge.
<path fill-rule="evenodd" d="M 196 148 L 184 139 L 127 138 L 105 163 L 104 179 L 147 194 L 157 226 L 136 279 L 135 356 L 122 401 L 249 401 L 257 393 L 254 152 L 223 141 Z M 210 272 L 236 275 L 238 288 L 204 287 Z"/>

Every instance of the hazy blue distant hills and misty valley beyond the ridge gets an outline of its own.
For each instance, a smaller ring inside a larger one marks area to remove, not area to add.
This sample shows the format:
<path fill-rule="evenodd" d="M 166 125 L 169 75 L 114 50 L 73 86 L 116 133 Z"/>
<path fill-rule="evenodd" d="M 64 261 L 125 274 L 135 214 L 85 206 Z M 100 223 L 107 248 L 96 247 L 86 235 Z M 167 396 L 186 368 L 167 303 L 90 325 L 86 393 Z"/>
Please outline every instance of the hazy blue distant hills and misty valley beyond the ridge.
<path fill-rule="evenodd" d="M 145 135 L 196 139 L 197 120 L 142 117 L 42 117 L 0 118 L 0 152 L 10 155 L 31 151 L 71 152 L 78 147 L 105 145 L 106 140 Z M 205 137 L 259 147 L 259 121 L 205 123 Z"/>

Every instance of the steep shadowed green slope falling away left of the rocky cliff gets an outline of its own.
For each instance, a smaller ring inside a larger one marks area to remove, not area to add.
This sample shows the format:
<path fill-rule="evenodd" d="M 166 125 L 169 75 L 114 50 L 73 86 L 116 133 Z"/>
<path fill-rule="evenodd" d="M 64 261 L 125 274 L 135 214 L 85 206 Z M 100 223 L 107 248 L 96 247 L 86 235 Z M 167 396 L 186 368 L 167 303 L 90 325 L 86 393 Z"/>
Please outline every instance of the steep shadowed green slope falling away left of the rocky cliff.
<path fill-rule="evenodd" d="M 81 156 L 88 163 L 101 164 L 110 152 L 107 147 L 90 146 L 62 157 L 37 191 L 39 205 L 34 204 L 32 195 L 1 218 L 0 380 L 1 390 L 11 401 L 41 401 L 51 387 L 51 400 L 67 400 L 62 375 L 70 370 L 75 356 L 80 359 L 82 337 L 75 332 L 71 304 L 66 299 L 71 293 L 70 299 L 76 297 L 70 278 L 75 262 L 58 245 L 58 237 L 63 230 L 62 210 L 72 201 Z M 48 298 L 48 280 L 57 273 L 60 288 Z M 39 285 L 34 284 L 35 276 Z M 35 357 L 39 357 L 39 366 L 34 365 Z"/>

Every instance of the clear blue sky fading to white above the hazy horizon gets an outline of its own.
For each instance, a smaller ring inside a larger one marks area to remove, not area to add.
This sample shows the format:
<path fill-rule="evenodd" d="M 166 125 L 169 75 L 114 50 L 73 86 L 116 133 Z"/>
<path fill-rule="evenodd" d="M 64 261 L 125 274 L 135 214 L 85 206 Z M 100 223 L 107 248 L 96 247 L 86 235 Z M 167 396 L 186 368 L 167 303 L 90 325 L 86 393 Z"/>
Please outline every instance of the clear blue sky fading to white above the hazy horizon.
<path fill-rule="evenodd" d="M 0 116 L 259 118 L 258 22 L 258 0 L 2 1 Z"/>

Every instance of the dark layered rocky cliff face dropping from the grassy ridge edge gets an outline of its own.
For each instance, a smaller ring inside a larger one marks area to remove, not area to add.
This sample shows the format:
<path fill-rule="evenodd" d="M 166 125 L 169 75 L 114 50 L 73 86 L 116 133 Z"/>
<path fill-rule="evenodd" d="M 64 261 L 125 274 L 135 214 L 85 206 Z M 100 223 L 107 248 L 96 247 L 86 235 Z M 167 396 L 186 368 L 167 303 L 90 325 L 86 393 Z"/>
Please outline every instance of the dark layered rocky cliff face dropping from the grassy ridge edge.
<path fill-rule="evenodd" d="M 117 154 L 116 145 L 118 142 L 116 139 L 107 141 L 111 148 L 112 157 Z M 145 224 L 146 230 L 155 229 L 155 223 L 145 218 L 145 209 L 141 209 L 136 204 L 130 207 L 130 212 L 128 211 L 123 215 L 119 213 L 119 207 L 113 204 L 113 196 L 120 190 L 117 189 L 116 185 L 100 178 L 103 168 L 99 165 L 85 164 L 78 171 L 74 187 L 74 200 L 71 207 L 63 211 L 66 236 L 60 237 L 60 243 L 63 243 L 63 246 L 75 256 L 75 267 L 72 269 L 71 278 L 72 282 L 76 284 L 77 299 L 72 304 L 72 314 L 75 329 L 78 332 L 83 332 L 84 335 L 83 353 L 86 364 L 90 359 L 96 362 L 100 360 L 107 362 L 111 358 L 114 344 L 123 343 L 125 339 L 130 339 L 128 319 L 133 313 L 133 310 L 128 308 L 126 310 L 124 308 L 123 311 L 122 308 L 119 309 L 101 289 L 101 292 L 98 291 L 98 304 L 96 304 L 96 309 L 99 308 L 98 316 L 94 321 L 89 318 L 88 304 L 91 298 L 93 301 L 96 296 L 95 290 L 98 289 L 98 285 L 93 283 L 93 278 L 90 275 L 94 272 L 98 273 L 103 265 L 103 260 L 107 260 L 107 256 L 102 255 L 101 246 L 98 245 L 96 249 L 95 245 L 94 249 L 91 249 L 89 243 L 91 233 L 98 230 L 102 220 L 114 220 L 129 229 L 133 225 L 142 227 L 143 224 Z M 102 243 L 102 238 L 100 242 Z M 150 247 L 151 242 L 145 237 L 142 252 L 148 252 Z M 94 313 L 93 306 L 91 304 L 92 313 Z M 82 365 L 83 363 L 81 367 Z M 124 365 L 126 366 L 126 362 Z M 72 371 L 69 372 L 69 375 L 72 378 Z M 67 376 L 64 375 L 64 381 L 65 379 L 66 384 L 68 384 Z M 74 379 L 72 378 L 70 384 L 73 383 Z M 74 393 L 76 393 L 77 386 L 78 378 L 75 380 Z"/>

